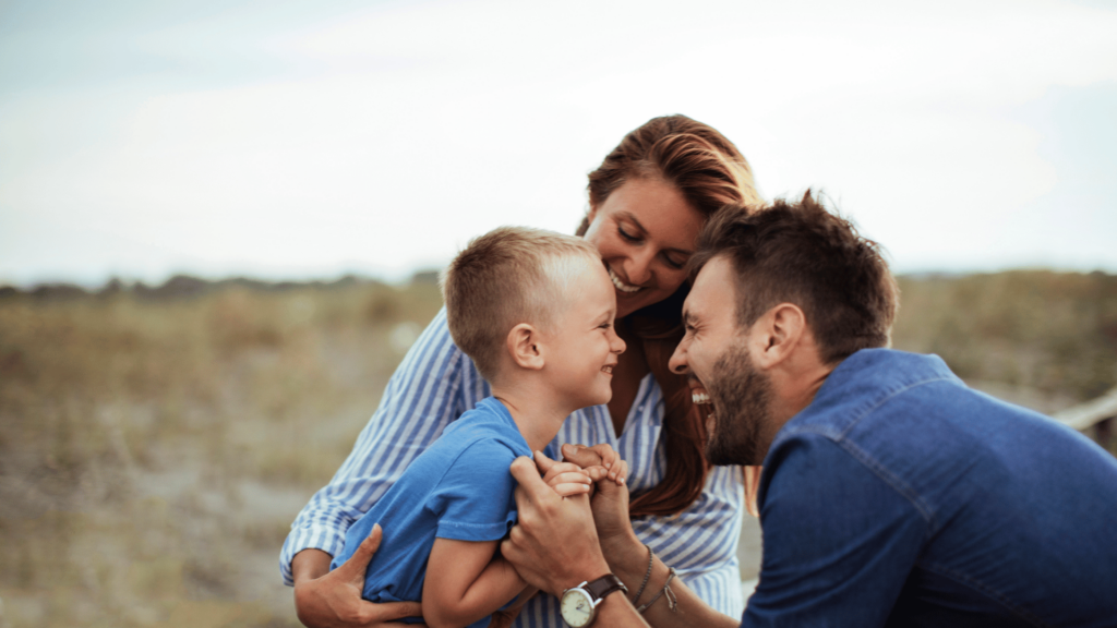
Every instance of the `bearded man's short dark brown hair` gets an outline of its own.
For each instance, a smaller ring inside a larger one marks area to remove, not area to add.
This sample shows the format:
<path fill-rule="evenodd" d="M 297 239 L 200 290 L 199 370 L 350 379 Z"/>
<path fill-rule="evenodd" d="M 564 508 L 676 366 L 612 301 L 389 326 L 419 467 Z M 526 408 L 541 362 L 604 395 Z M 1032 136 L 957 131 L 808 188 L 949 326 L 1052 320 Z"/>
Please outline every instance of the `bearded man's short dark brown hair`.
<path fill-rule="evenodd" d="M 793 303 L 806 315 L 824 363 L 890 343 L 899 291 L 879 245 L 810 190 L 798 202 L 779 199 L 760 210 L 738 206 L 715 213 L 698 236 L 691 279 L 719 255 L 736 270 L 742 326 Z"/>

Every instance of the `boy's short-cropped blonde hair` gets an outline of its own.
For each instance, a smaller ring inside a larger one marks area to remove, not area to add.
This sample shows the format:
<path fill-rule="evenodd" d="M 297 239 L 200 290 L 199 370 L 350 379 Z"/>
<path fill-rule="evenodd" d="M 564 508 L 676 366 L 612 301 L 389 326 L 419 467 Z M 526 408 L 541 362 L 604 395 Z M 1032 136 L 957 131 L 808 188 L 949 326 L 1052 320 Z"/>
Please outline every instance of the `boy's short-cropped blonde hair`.
<path fill-rule="evenodd" d="M 580 267 L 571 261 L 579 258 L 601 264 L 598 250 L 581 238 L 499 227 L 474 238 L 442 273 L 450 335 L 489 383 L 512 327 L 531 323 L 547 330 L 561 314 L 560 304 L 576 288 Z"/>

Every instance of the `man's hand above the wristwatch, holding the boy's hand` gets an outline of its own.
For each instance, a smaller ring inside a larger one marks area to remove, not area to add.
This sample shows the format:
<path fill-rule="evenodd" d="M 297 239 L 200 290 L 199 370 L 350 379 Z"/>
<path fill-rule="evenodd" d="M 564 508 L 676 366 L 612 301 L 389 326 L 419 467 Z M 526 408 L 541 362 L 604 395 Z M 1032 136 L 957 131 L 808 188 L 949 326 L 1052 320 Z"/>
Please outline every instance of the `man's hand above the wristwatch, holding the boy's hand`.
<path fill-rule="evenodd" d="M 558 596 L 564 589 L 609 573 L 589 499 L 583 495 L 558 496 L 529 458 L 516 458 L 510 470 L 519 483 L 519 522 L 500 544 L 500 552 L 519 575 Z"/>

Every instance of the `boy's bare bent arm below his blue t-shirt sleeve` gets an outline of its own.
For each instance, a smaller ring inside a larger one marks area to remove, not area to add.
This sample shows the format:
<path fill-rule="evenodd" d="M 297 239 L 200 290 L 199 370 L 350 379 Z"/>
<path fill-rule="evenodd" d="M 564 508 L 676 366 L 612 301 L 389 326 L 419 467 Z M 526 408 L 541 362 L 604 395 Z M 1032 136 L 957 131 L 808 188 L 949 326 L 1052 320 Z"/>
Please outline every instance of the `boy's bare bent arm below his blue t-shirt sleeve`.
<path fill-rule="evenodd" d="M 497 541 L 435 539 L 422 587 L 428 626 L 468 626 L 493 615 L 527 583 L 508 562 L 494 558 Z"/>

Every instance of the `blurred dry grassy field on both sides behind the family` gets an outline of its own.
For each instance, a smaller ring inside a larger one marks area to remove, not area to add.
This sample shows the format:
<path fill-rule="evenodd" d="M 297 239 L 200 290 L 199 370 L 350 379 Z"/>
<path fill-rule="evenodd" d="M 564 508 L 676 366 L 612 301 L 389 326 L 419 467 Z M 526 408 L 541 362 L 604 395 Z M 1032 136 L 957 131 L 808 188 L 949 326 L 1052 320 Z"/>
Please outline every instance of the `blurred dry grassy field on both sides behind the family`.
<path fill-rule="evenodd" d="M 297 626 L 279 545 L 437 312 L 420 279 L 0 288 L 0 628 Z M 1117 383 L 1117 276 L 901 288 L 896 346 L 984 390 Z"/>

